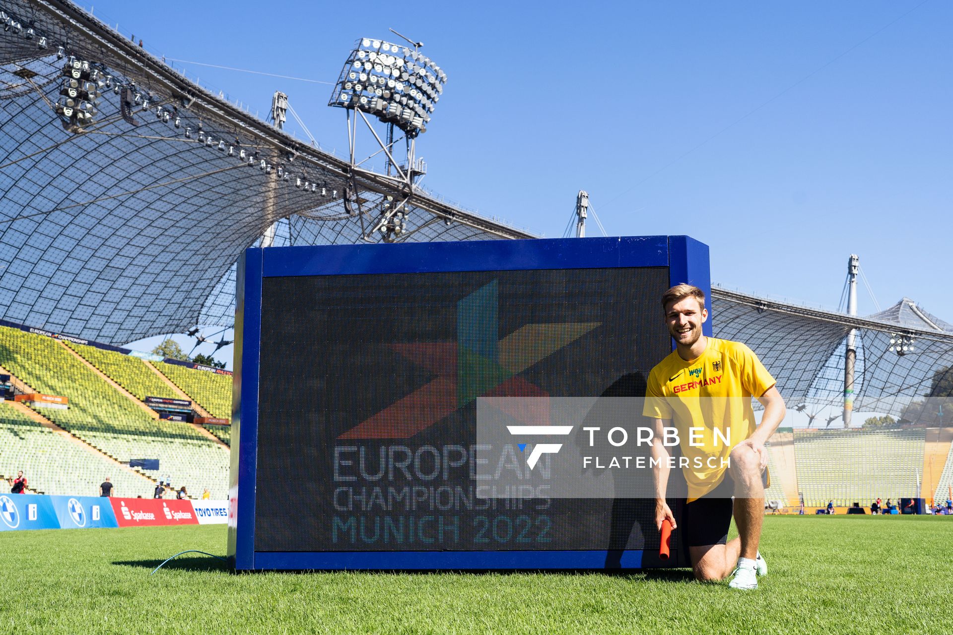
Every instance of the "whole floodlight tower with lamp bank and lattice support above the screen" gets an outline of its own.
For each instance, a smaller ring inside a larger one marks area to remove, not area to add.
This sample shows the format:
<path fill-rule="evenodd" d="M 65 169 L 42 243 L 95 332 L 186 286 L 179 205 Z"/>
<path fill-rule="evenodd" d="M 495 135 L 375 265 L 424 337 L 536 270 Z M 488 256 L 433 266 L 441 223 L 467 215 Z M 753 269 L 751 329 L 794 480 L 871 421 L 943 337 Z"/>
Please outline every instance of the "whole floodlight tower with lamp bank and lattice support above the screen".
<path fill-rule="evenodd" d="M 399 200 L 390 195 L 384 197 L 379 218 L 363 237 L 368 240 L 379 231 L 389 242 L 403 232 L 407 201 L 414 193 L 416 181 L 426 173 L 423 160 L 416 157 L 416 138 L 427 130 L 447 81 L 447 73 L 420 52 L 422 42 L 414 42 L 393 29 L 391 31 L 407 40 L 410 46 L 374 38 L 357 40 L 328 102 L 328 106 L 345 109 L 347 114 L 352 175 L 364 170 L 360 166 L 365 161 L 384 153 L 386 176 L 393 180 Z M 372 114 L 384 124 L 386 141 L 381 139 L 365 113 Z M 356 158 L 358 119 L 363 120 L 379 147 L 363 160 Z M 400 136 L 395 139 L 395 134 Z M 400 157 L 402 163 L 395 158 L 395 145 L 400 141 L 404 142 L 404 155 Z M 352 179 L 345 203 L 350 206 L 357 200 L 359 208 L 355 189 Z M 363 210 L 360 213 L 364 213 Z"/>

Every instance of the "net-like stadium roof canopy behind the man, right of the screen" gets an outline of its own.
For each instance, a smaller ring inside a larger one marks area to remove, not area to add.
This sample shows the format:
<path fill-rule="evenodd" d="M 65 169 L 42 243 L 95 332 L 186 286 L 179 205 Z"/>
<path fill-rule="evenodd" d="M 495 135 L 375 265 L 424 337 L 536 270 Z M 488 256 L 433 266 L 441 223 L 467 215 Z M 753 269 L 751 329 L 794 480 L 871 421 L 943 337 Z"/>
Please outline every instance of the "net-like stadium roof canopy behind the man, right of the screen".
<path fill-rule="evenodd" d="M 846 338 L 853 328 L 853 409 L 915 423 L 941 422 L 940 405 L 950 402 L 953 407 L 953 332 L 888 322 L 883 313 L 874 317 L 712 290 L 716 337 L 751 347 L 778 380 L 789 409 L 843 406 Z M 816 427 L 843 427 L 843 421 L 820 421 Z"/>

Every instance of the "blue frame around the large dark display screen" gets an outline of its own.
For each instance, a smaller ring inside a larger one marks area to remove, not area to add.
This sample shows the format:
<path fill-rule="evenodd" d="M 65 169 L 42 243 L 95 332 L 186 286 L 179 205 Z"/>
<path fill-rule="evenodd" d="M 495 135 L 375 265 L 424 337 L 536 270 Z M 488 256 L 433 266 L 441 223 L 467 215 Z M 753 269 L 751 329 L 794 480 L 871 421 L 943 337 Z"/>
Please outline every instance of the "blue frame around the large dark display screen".
<path fill-rule="evenodd" d="M 236 571 L 367 569 L 603 569 L 605 550 L 314 551 L 254 550 L 258 364 L 262 281 L 267 277 L 431 271 L 666 267 L 672 285 L 711 297 L 708 246 L 688 236 L 621 236 L 460 243 L 249 248 L 238 262 L 235 302 L 232 469 L 228 555 Z M 660 309 L 660 307 L 659 307 Z M 709 308 L 710 310 L 710 308 Z M 659 316 L 660 317 L 660 316 Z M 712 316 L 702 331 L 711 336 Z M 680 558 L 673 558 L 681 566 Z M 621 554 L 621 569 L 642 565 L 642 551 Z"/>

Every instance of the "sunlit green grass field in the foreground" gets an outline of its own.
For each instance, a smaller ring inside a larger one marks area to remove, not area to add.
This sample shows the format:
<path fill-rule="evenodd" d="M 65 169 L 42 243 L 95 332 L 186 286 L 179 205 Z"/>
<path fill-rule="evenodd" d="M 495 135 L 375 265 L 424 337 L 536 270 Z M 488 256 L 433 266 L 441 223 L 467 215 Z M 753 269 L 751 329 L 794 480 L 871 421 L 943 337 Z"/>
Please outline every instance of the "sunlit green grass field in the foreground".
<path fill-rule="evenodd" d="M 687 570 L 263 573 L 224 526 L 0 534 L 0 633 L 949 633 L 953 518 L 768 517 L 760 588 Z"/>

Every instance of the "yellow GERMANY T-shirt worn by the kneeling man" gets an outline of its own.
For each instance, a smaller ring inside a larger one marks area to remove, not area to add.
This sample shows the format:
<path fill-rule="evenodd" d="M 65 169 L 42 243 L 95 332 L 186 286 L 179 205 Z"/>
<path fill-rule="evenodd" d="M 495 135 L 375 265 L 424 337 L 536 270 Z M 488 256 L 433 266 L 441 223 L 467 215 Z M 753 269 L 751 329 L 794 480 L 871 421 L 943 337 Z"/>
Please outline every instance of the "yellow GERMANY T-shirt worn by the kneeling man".
<path fill-rule="evenodd" d="M 689 502 L 721 483 L 731 449 L 755 431 L 751 398 L 774 385 L 751 348 L 714 337 L 697 359 L 673 350 L 652 368 L 642 414 L 678 429 Z"/>

